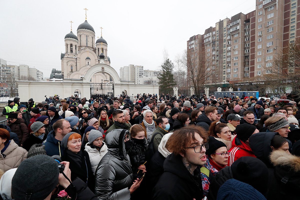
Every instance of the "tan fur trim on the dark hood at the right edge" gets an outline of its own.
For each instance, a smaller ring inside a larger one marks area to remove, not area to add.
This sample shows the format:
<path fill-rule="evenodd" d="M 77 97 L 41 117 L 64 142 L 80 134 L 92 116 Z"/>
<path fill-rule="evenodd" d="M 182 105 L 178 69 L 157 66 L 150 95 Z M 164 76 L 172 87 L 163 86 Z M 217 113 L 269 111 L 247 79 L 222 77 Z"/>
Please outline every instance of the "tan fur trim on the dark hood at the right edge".
<path fill-rule="evenodd" d="M 300 172 L 300 157 L 287 154 L 283 150 L 275 150 L 270 154 L 274 166 L 290 167 L 294 172 Z"/>

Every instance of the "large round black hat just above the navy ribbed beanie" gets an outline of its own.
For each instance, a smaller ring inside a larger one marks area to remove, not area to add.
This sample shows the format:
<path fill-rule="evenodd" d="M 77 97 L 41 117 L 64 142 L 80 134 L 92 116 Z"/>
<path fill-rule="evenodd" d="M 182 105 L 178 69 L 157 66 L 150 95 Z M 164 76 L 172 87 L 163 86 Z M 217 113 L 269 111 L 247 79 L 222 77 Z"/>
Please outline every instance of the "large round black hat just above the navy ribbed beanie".
<path fill-rule="evenodd" d="M 267 194 L 269 172 L 258 158 L 243 156 L 232 163 L 231 171 L 234 179 L 251 185 L 263 195 Z"/>

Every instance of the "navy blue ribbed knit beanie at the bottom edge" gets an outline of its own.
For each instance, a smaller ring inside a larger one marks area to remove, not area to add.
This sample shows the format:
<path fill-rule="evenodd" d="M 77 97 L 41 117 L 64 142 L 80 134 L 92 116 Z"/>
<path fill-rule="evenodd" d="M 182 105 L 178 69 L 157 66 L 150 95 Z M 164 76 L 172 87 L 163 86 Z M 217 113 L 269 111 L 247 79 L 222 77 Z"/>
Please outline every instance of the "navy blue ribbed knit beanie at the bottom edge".
<path fill-rule="evenodd" d="M 241 198 L 242 197 L 242 198 Z M 218 200 L 266 200 L 266 198 L 249 184 L 235 179 L 227 180 L 219 189 Z"/>

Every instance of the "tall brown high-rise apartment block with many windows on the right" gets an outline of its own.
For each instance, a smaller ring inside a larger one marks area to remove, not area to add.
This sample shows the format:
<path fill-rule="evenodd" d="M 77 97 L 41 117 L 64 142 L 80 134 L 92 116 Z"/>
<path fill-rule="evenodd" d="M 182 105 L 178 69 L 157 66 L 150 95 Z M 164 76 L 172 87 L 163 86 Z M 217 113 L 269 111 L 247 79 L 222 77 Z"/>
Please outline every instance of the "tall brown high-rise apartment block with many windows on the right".
<path fill-rule="evenodd" d="M 275 56 L 300 36 L 299 5 L 300 0 L 256 0 L 252 12 L 220 20 L 203 35 L 190 37 L 187 54 L 199 65 L 199 54 L 205 53 L 210 61 L 206 84 L 271 73 Z"/>

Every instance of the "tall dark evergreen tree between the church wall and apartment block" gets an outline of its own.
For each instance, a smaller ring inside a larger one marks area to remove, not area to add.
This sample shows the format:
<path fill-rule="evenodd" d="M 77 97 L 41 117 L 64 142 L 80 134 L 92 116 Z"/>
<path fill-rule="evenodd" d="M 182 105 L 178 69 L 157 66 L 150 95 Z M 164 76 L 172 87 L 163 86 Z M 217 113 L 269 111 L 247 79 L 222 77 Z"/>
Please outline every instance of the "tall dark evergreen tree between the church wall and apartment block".
<path fill-rule="evenodd" d="M 161 73 L 158 77 L 160 94 L 173 94 L 173 87 L 176 85 L 174 76 L 172 74 L 173 68 L 174 64 L 169 58 L 167 58 L 164 61 L 164 64 L 161 65 L 163 73 Z"/>

